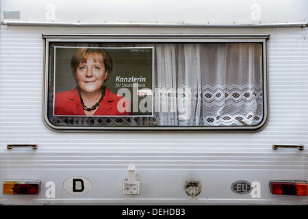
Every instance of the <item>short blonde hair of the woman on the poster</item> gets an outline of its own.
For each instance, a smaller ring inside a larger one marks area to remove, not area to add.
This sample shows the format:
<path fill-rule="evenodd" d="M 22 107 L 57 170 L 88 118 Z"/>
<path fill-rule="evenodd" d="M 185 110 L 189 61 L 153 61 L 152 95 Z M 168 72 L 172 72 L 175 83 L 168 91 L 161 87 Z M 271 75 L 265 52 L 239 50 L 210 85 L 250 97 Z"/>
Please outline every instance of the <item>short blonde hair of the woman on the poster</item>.
<path fill-rule="evenodd" d="M 112 73 L 112 58 L 104 49 L 79 48 L 75 51 L 72 60 L 70 60 L 70 68 L 72 69 L 73 77 L 75 78 L 77 67 L 79 64 L 85 63 L 88 57 L 92 57 L 94 62 L 103 62 L 107 70 L 107 79 Z"/>

